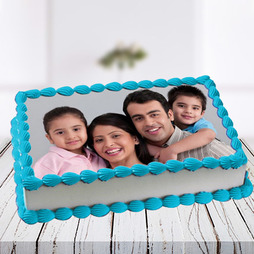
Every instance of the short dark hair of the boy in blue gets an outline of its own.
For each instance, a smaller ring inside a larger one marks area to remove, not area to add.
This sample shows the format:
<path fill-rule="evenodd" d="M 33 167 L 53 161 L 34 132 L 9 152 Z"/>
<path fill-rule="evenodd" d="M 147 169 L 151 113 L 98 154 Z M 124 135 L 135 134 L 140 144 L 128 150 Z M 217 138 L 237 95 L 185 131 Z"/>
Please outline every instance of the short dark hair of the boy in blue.
<path fill-rule="evenodd" d="M 170 109 L 172 109 L 173 103 L 175 102 L 177 97 L 181 95 L 199 98 L 202 105 L 202 111 L 206 110 L 206 96 L 203 94 L 203 92 L 200 89 L 194 86 L 189 86 L 189 85 L 176 86 L 172 88 L 171 90 L 169 90 L 168 105 Z"/>

